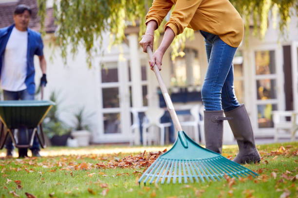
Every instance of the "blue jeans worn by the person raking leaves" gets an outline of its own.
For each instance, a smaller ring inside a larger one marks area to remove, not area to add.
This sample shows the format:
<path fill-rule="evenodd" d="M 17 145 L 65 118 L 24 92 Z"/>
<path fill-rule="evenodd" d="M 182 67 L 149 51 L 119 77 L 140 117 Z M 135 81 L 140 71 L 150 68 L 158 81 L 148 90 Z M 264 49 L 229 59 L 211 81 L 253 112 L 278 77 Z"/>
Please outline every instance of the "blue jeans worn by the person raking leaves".
<path fill-rule="evenodd" d="M 233 58 L 237 48 L 224 43 L 218 35 L 200 32 L 205 38 L 208 60 L 201 91 L 205 110 L 233 110 L 240 106 L 234 91 Z"/>

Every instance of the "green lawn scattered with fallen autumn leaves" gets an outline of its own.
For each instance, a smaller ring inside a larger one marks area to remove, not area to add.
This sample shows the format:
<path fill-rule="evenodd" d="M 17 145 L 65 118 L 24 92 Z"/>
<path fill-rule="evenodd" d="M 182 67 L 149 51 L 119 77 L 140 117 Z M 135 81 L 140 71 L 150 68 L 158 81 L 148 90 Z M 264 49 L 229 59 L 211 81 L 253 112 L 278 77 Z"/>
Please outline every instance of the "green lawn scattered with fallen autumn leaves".
<path fill-rule="evenodd" d="M 147 150 L 145 156 L 152 157 L 156 153 L 149 154 L 149 151 L 165 148 L 46 148 L 41 153 L 44 157 L 38 159 L 2 157 L 0 198 L 33 198 L 29 194 L 38 198 L 298 197 L 297 142 L 258 146 L 263 157 L 261 163 L 245 165 L 260 174 L 255 179 L 139 186 L 137 180 L 144 167 L 140 166 L 142 163 L 136 156 Z M 0 156 L 4 156 L 4 151 L 1 150 Z M 223 155 L 227 157 L 234 157 L 236 153 L 236 146 L 223 149 Z"/>

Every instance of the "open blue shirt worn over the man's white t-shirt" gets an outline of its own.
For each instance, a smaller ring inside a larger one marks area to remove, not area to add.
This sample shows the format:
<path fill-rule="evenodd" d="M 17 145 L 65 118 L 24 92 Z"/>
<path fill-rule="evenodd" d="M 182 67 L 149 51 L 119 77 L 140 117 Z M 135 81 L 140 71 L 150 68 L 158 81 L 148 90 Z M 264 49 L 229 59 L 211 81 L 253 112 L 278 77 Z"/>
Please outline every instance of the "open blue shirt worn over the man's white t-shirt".
<path fill-rule="evenodd" d="M 9 36 L 12 32 L 12 29 L 15 25 L 11 25 L 6 28 L 0 29 L 0 76 L 3 64 L 3 58 L 5 53 L 5 48 L 9 39 Z M 27 91 L 29 94 L 35 93 L 35 67 L 34 67 L 34 55 L 42 56 L 43 55 L 43 43 L 40 33 L 27 29 L 28 32 L 28 46 L 27 46 L 27 74 L 25 79 L 25 84 L 27 86 Z"/>

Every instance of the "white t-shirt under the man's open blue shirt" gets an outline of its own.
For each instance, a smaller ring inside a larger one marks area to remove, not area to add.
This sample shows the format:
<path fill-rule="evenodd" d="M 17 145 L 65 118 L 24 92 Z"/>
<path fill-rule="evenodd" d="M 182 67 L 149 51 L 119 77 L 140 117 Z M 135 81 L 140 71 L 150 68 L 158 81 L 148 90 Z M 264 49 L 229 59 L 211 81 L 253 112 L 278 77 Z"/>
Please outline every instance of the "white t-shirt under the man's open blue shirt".
<path fill-rule="evenodd" d="M 13 28 L 8 39 L 1 71 L 1 88 L 6 91 L 21 91 L 27 88 L 28 32 Z"/>

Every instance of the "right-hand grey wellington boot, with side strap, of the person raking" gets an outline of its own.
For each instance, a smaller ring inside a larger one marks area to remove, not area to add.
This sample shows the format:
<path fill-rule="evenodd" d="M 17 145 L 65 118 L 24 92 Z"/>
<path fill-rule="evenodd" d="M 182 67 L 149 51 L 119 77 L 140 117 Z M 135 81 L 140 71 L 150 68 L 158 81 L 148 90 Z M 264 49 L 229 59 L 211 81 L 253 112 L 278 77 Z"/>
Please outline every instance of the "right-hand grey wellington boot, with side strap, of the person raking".
<path fill-rule="evenodd" d="M 260 162 L 261 156 L 256 148 L 254 133 L 244 104 L 224 114 L 232 117 L 228 122 L 239 147 L 239 153 L 233 161 L 238 164 Z"/>

